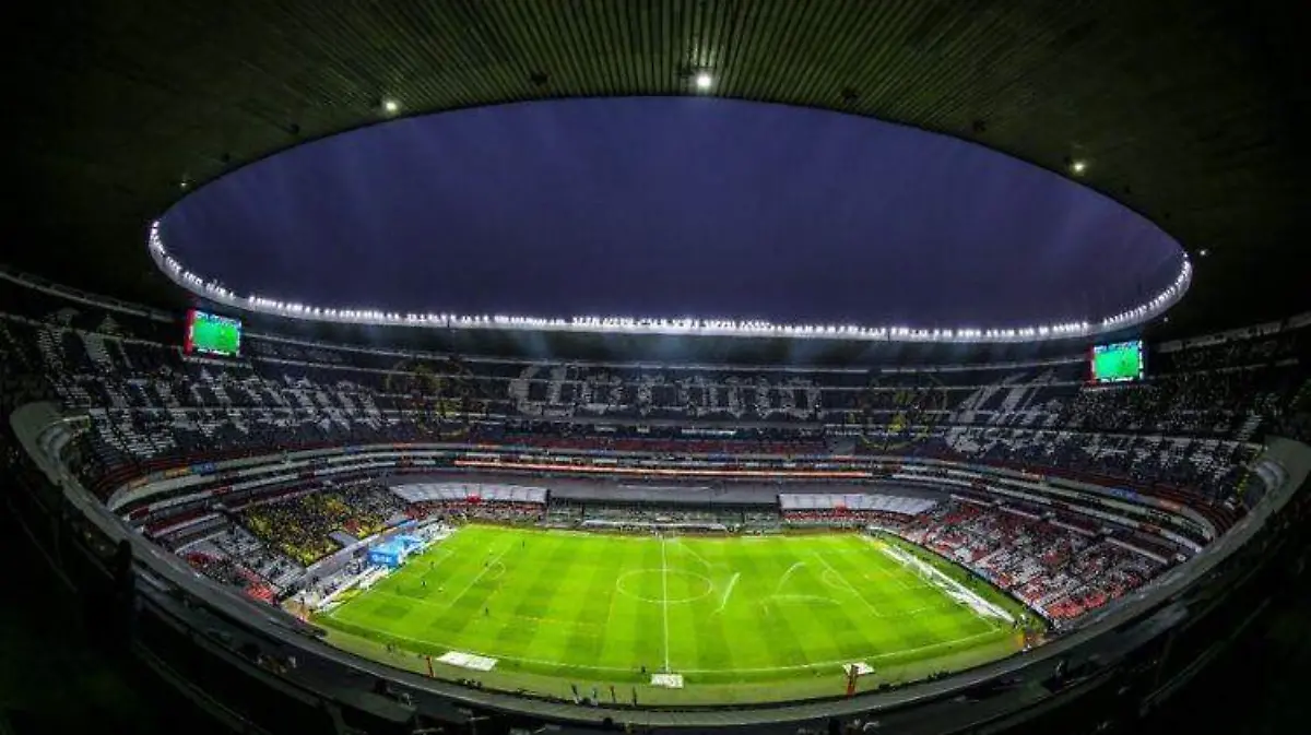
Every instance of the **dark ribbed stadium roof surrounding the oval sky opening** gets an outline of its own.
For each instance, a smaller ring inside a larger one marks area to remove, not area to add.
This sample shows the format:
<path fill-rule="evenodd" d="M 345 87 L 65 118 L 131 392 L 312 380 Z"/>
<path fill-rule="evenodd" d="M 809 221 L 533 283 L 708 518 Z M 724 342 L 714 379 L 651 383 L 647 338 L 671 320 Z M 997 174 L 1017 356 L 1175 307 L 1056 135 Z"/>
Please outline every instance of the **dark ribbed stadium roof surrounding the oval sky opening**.
<path fill-rule="evenodd" d="M 1168 331 L 1307 305 L 1285 265 L 1311 236 L 1304 4 L 52 0 L 22 13 L 4 259 L 125 299 L 181 303 L 144 248 L 155 217 L 305 140 L 541 97 L 712 93 L 902 122 L 1076 177 L 1192 253 Z"/>

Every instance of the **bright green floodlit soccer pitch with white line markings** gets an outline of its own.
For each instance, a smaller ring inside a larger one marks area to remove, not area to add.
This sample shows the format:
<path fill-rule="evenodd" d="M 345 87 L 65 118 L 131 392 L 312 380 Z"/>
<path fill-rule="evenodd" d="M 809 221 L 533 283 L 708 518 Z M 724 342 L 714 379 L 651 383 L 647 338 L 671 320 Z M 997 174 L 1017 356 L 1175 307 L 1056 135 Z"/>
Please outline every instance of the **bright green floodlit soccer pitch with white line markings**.
<path fill-rule="evenodd" d="M 855 662 L 874 669 L 861 688 L 978 664 L 1023 645 L 1020 611 L 927 552 L 855 533 L 471 525 L 316 621 L 342 647 L 416 671 L 451 651 L 496 659 L 488 672 L 435 672 L 489 687 L 616 684 L 648 702 L 741 702 L 838 696 Z M 653 673 L 680 675 L 684 689 L 652 687 Z"/>

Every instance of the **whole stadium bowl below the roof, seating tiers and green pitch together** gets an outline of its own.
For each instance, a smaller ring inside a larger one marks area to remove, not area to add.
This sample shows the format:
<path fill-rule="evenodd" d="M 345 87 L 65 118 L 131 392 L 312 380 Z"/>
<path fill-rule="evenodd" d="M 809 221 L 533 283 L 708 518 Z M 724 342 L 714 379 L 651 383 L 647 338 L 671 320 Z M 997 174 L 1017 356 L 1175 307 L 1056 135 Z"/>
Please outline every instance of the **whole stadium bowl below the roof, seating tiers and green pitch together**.
<path fill-rule="evenodd" d="M 0 283 L 16 431 L 159 548 L 346 651 L 615 706 L 886 690 L 1079 630 L 1285 483 L 1262 443 L 1307 430 L 1308 322 L 1099 386 L 1083 350 L 653 367 L 249 331 L 214 358 Z"/>

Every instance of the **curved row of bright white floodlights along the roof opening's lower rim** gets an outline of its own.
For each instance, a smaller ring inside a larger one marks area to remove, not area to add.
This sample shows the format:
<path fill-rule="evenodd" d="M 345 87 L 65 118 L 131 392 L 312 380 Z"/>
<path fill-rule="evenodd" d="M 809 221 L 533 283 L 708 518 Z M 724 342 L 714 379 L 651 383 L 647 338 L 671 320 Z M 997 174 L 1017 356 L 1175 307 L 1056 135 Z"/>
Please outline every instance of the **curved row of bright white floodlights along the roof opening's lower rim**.
<path fill-rule="evenodd" d="M 502 329 L 532 331 L 574 331 L 597 334 L 666 334 L 697 337 L 779 337 L 787 339 L 848 339 L 871 342 L 1046 342 L 1076 337 L 1093 337 L 1118 331 L 1156 318 L 1179 303 L 1193 280 L 1193 265 L 1184 257 L 1179 275 L 1165 290 L 1133 309 L 1100 321 L 1032 325 L 1020 328 L 956 328 L 920 329 L 912 326 L 864 325 L 787 325 L 768 321 L 734 321 L 708 318 L 629 318 L 582 316 L 570 318 L 541 318 L 506 314 L 417 314 L 367 308 L 328 308 L 279 301 L 258 295 L 237 295 L 216 282 L 187 271 L 164 248 L 160 223 L 151 223 L 148 248 L 155 263 L 166 276 L 187 291 L 214 301 L 248 312 L 258 312 L 288 318 L 330 321 L 340 324 L 371 324 L 395 326 L 427 326 L 438 329 Z"/>

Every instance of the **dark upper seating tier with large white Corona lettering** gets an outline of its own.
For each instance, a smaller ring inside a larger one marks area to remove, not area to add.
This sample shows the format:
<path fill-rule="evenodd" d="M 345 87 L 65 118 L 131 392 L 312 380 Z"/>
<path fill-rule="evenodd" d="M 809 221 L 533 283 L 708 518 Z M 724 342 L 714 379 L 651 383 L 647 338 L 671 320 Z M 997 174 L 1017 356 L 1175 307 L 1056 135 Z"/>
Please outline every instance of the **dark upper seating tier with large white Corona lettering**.
<path fill-rule="evenodd" d="M 181 325 L 144 311 L 0 282 L 5 380 L 87 417 L 77 464 L 101 493 L 195 459 L 476 440 L 662 455 L 941 456 L 1231 511 L 1242 506 L 1255 442 L 1295 427 L 1302 414 L 1289 406 L 1311 404 L 1299 330 L 1164 351 L 1152 355 L 1152 380 L 1109 389 L 1083 384 L 1078 356 L 918 372 L 650 368 L 455 362 L 248 334 L 243 358 L 212 360 L 182 355 L 180 334 Z"/>

